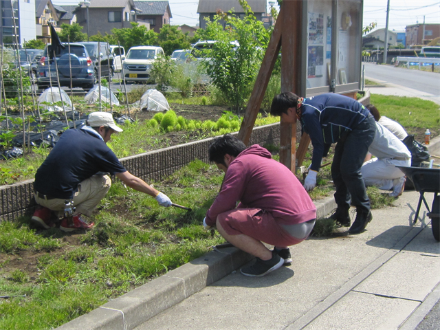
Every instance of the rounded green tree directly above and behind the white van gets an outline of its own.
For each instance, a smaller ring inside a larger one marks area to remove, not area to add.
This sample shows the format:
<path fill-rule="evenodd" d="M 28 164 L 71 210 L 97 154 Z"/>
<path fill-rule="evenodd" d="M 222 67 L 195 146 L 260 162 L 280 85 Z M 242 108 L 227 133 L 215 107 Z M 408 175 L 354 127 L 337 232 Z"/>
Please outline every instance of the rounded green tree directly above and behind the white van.
<path fill-rule="evenodd" d="M 146 30 L 145 25 L 131 22 L 133 28 L 112 29 L 116 42 L 120 42 L 121 46 L 129 49 L 133 46 L 140 45 L 158 45 L 157 33 L 154 30 Z"/>

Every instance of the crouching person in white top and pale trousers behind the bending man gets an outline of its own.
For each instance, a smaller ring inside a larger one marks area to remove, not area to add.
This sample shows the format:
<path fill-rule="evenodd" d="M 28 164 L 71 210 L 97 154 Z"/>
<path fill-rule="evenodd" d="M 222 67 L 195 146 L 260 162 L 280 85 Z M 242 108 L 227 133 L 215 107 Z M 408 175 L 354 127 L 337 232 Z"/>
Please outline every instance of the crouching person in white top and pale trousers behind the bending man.
<path fill-rule="evenodd" d="M 371 155 L 376 158 L 369 159 Z M 396 166 L 411 166 L 411 153 L 396 135 L 379 122 L 376 122 L 375 137 L 366 159 L 369 160 L 361 168 L 365 186 L 393 190 L 391 197 L 400 196 L 405 188 L 406 177 Z"/>

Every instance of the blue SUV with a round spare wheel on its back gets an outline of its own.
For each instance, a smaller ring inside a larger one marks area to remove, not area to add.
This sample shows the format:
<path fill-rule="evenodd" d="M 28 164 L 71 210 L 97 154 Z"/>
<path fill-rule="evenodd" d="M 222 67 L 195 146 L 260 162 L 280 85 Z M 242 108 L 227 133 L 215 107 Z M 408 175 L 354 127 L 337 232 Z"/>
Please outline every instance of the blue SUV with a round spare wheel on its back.
<path fill-rule="evenodd" d="M 58 77 L 61 86 L 70 87 L 72 72 L 72 87 L 82 87 L 89 90 L 94 87 L 95 75 L 94 64 L 91 61 L 85 45 L 78 43 L 65 45 L 64 50 L 58 50 L 56 53 L 56 63 L 54 59 L 49 60 L 47 49 L 50 44 L 46 45 L 45 50 L 36 67 L 36 85 L 39 89 L 46 89 L 52 83 L 52 86 L 58 86 L 56 76 L 56 66 L 58 66 Z"/>

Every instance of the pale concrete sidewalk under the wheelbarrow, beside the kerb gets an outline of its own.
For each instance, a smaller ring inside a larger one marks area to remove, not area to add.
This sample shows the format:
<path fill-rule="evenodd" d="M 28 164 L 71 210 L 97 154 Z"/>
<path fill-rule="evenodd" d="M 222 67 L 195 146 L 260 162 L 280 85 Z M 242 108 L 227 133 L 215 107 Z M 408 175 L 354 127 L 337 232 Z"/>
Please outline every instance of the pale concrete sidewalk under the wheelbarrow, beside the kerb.
<path fill-rule="evenodd" d="M 404 192 L 366 232 L 307 239 L 292 265 L 232 272 L 135 329 L 415 329 L 440 298 L 440 243 L 429 218 L 410 225 L 418 199 Z"/>

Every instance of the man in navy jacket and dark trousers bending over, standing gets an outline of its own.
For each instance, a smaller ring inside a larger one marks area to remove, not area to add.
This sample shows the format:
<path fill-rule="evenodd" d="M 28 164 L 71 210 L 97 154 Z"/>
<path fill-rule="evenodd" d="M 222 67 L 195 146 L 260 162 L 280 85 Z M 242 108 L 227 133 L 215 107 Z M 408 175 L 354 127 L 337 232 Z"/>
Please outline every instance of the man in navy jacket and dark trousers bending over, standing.
<path fill-rule="evenodd" d="M 336 143 L 331 176 L 336 186 L 334 196 L 338 208 L 331 218 L 349 227 L 351 204 L 356 207 L 356 218 L 349 233 L 363 232 L 373 219 L 360 172 L 375 135 L 375 120 L 370 111 L 347 96 L 328 93 L 300 98 L 292 92 L 285 92 L 274 97 L 270 113 L 281 116 L 285 122 L 300 120 L 303 131 L 310 136 L 314 151 L 304 181 L 306 190 L 315 188 L 322 157 L 331 144 Z"/>

